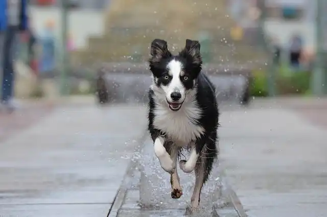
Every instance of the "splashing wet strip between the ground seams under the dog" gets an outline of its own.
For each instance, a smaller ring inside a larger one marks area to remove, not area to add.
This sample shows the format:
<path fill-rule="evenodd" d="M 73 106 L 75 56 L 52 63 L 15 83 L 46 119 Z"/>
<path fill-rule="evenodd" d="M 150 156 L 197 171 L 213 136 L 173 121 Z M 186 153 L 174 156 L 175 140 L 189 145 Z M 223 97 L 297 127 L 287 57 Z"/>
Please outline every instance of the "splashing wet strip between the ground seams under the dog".
<path fill-rule="evenodd" d="M 185 174 L 179 171 L 183 196 L 180 199 L 171 198 L 170 175 L 162 171 L 157 158 L 153 155 L 153 144 L 146 140 L 139 155 L 133 158 L 134 168 L 130 173 L 129 182 L 125 182 L 122 191 L 121 207 L 111 216 L 119 217 L 156 217 L 183 216 L 185 208 L 190 204 L 195 177 L 193 173 Z M 212 171 L 201 194 L 201 209 L 192 216 L 238 216 L 235 208 L 244 213 L 242 205 L 234 207 L 231 200 L 238 200 L 233 190 L 225 181 L 224 171 L 218 163 Z M 213 215 L 216 214 L 216 215 Z M 244 213 L 245 214 L 245 213 Z M 245 215 L 241 215 L 245 216 Z"/>

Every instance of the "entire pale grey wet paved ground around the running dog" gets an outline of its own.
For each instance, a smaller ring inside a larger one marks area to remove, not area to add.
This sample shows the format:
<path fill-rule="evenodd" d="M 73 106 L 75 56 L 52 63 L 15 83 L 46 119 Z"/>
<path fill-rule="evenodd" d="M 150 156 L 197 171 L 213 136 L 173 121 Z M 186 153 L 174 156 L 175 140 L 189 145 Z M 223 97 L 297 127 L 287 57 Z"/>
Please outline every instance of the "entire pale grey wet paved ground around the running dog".
<path fill-rule="evenodd" d="M 284 98 L 258 99 L 247 108 L 223 105 L 221 164 L 204 189 L 210 197 L 202 197 L 203 216 L 211 216 L 209 199 L 228 202 L 228 189 L 249 216 L 326 216 L 326 102 Z M 133 177 L 124 177 L 144 134 L 145 107 L 93 103 L 63 103 L 0 140 L 0 216 L 105 216 L 113 202 L 110 217 L 182 216 L 193 177 L 180 172 L 184 195 L 170 199 L 169 177 L 149 140 L 133 158 L 143 159 L 133 164 L 143 172 L 132 168 Z M 139 209 L 140 200 L 158 210 Z M 218 213 L 237 216 L 230 206 Z"/>

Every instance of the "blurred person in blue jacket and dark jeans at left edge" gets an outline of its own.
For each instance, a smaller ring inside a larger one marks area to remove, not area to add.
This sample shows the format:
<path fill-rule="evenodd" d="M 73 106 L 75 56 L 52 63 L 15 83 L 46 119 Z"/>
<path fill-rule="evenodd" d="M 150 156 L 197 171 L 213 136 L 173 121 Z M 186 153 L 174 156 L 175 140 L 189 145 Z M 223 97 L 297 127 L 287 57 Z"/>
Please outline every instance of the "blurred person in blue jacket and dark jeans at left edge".
<path fill-rule="evenodd" d="M 14 92 L 14 67 L 17 34 L 26 34 L 28 0 L 0 1 L 0 34 L 2 35 L 2 96 L 1 105 L 10 111 Z"/>

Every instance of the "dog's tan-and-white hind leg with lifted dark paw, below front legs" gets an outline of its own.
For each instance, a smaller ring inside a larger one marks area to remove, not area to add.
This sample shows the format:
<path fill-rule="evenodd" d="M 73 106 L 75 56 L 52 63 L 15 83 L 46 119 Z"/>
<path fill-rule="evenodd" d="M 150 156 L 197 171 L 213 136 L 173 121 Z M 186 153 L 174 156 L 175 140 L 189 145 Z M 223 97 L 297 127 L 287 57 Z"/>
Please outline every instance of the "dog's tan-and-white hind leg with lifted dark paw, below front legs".
<path fill-rule="evenodd" d="M 169 149 L 169 154 L 174 162 L 173 164 L 175 165 L 175 169 L 174 169 L 174 172 L 170 176 L 170 183 L 172 186 L 171 196 L 174 199 L 180 198 L 183 194 L 182 188 L 180 187 L 179 176 L 178 176 L 177 168 L 176 168 L 178 151 L 179 151 L 179 147 L 177 147 L 175 145 L 171 145 L 171 147 Z"/>

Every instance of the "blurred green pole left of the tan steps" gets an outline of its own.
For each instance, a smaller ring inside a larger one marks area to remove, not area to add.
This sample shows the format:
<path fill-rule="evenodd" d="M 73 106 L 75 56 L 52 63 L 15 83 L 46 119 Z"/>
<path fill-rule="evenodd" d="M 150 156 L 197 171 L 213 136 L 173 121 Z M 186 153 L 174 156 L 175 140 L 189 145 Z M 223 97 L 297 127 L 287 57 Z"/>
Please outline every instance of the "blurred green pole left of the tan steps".
<path fill-rule="evenodd" d="M 68 1 L 61 1 L 61 64 L 60 64 L 60 94 L 67 94 L 67 73 L 69 70 L 69 59 L 67 52 L 68 32 Z"/>

